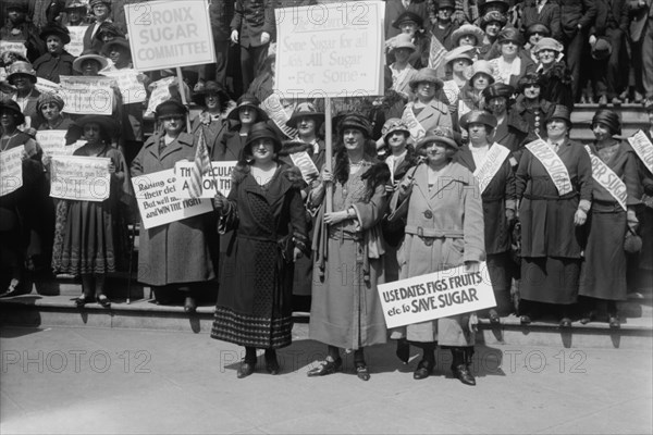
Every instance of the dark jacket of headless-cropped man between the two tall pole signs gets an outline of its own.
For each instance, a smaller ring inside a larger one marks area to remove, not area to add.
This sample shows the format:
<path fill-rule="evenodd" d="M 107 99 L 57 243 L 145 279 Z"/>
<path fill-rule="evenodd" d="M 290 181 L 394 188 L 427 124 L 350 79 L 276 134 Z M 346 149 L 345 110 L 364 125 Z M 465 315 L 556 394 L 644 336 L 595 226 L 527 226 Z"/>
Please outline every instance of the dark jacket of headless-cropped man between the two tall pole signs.
<path fill-rule="evenodd" d="M 261 34 L 274 39 L 274 0 L 236 0 L 231 30 L 238 30 L 238 42 L 243 47 L 260 47 Z"/>

